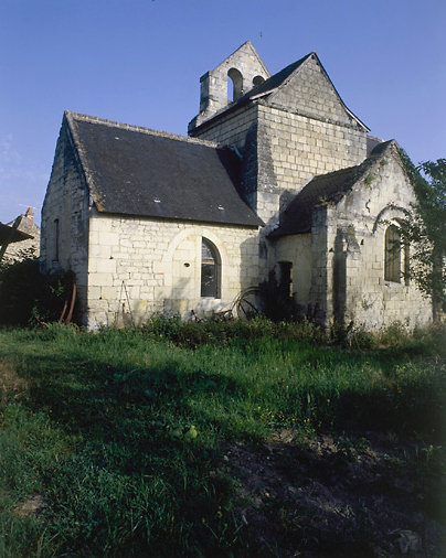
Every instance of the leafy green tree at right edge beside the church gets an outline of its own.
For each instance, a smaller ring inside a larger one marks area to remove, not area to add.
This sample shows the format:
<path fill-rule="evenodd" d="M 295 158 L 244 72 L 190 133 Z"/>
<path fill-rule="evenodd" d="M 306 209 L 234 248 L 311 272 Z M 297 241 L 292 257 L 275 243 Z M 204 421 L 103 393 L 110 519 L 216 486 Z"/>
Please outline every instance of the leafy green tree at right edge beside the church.
<path fill-rule="evenodd" d="M 402 158 L 416 194 L 401 226 L 411 247 L 406 276 L 431 297 L 437 321 L 446 311 L 446 159 L 415 168 L 406 153 Z"/>

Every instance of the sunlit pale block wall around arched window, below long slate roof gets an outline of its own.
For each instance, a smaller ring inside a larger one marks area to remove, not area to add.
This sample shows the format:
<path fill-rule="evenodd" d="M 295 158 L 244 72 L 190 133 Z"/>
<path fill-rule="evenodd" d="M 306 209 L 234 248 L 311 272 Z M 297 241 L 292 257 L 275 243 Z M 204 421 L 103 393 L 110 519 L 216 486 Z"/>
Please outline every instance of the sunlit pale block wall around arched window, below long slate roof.
<path fill-rule="evenodd" d="M 202 298 L 201 243 L 221 258 L 221 294 Z M 231 305 L 257 285 L 257 228 L 94 215 L 89 228 L 89 328 L 139 324 L 153 312 L 190 318 Z"/>

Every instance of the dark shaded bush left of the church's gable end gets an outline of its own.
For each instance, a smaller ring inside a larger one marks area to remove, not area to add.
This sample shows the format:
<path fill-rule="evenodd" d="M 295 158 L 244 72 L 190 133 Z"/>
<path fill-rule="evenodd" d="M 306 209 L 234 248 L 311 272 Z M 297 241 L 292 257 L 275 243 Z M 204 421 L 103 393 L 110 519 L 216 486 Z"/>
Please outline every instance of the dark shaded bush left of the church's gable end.
<path fill-rule="evenodd" d="M 67 273 L 42 273 L 28 254 L 0 265 L 0 324 L 39 325 L 57 321 L 68 293 Z"/>

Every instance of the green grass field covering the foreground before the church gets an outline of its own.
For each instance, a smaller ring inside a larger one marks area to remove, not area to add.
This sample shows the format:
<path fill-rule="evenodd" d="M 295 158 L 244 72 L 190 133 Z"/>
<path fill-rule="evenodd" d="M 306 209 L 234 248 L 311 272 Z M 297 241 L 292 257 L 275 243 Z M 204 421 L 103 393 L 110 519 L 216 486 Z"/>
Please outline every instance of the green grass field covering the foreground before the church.
<path fill-rule="evenodd" d="M 0 556 L 274 557 L 293 545 L 334 556 L 333 540 L 358 556 L 370 535 L 360 507 L 358 530 L 350 515 L 330 543 L 305 527 L 310 509 L 291 521 L 274 486 L 246 491 L 259 452 L 284 433 L 291 476 L 322 436 L 336 466 L 380 434 L 417 440 L 382 466 L 444 472 L 445 328 L 354 334 L 329 345 L 309 323 L 177 316 L 98 333 L 0 330 Z M 280 534 L 259 536 L 246 509 Z"/>

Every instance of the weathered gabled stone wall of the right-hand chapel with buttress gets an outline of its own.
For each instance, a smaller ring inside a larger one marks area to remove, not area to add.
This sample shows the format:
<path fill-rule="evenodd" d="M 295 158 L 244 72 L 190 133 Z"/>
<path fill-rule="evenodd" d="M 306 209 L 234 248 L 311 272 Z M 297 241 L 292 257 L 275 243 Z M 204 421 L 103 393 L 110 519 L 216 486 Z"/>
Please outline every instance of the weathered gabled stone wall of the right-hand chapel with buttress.
<path fill-rule="evenodd" d="M 386 227 L 397 224 L 413 198 L 395 144 L 336 207 L 325 210 L 325 222 L 316 221 L 314 257 L 320 244 L 318 261 L 327 254 L 327 292 L 323 269 L 317 271 L 316 262 L 311 298 L 323 309 L 326 323 L 337 319 L 379 329 L 395 321 L 414 326 L 432 320 L 431 302 L 415 283 L 406 285 L 403 277 L 400 282 L 384 279 Z M 402 271 L 404 258 L 403 249 Z"/>

